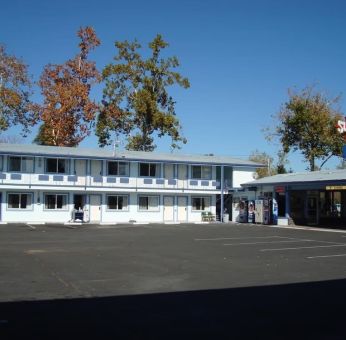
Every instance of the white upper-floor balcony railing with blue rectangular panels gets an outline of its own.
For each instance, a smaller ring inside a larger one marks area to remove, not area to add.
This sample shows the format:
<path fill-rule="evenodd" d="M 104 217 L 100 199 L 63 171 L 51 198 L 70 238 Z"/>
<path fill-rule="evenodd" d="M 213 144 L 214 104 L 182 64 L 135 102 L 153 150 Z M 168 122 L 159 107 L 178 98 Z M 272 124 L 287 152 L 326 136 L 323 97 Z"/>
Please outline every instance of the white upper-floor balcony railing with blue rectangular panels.
<path fill-rule="evenodd" d="M 216 190 L 220 187 L 215 180 L 27 173 L 0 173 L 0 184 L 180 190 Z"/>

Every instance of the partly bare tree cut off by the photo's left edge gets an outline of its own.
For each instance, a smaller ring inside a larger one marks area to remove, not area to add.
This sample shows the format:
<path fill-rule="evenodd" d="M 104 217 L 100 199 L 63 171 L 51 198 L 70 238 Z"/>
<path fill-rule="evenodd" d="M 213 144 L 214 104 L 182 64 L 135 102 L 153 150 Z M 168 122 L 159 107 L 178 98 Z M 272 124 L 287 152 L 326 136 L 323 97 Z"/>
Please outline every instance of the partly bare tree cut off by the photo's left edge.
<path fill-rule="evenodd" d="M 38 117 L 29 99 L 31 87 L 27 65 L 7 54 L 0 45 L 0 132 L 19 124 L 25 137 L 37 123 Z"/>

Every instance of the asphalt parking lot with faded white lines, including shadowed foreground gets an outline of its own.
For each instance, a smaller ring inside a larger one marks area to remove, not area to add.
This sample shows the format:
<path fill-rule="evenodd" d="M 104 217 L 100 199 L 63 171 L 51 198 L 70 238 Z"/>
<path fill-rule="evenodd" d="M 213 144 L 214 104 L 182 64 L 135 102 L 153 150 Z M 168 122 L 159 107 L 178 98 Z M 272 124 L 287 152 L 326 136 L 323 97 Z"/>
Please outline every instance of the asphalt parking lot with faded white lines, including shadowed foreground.
<path fill-rule="evenodd" d="M 1 225 L 0 338 L 345 339 L 346 233 Z"/>

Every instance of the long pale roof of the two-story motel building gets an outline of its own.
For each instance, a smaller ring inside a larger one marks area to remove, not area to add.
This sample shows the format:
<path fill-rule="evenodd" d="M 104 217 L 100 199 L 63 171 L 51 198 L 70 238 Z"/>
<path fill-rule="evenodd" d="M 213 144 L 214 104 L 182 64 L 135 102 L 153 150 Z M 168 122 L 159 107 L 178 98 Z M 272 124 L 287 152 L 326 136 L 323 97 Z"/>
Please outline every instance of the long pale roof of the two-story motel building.
<path fill-rule="evenodd" d="M 105 159 L 146 162 L 168 162 L 189 164 L 213 164 L 239 167 L 264 167 L 263 164 L 229 156 L 187 155 L 181 153 L 156 153 L 145 151 L 114 151 L 104 148 L 75 148 L 42 146 L 34 144 L 0 143 L 0 155 L 62 157 L 75 159 Z"/>

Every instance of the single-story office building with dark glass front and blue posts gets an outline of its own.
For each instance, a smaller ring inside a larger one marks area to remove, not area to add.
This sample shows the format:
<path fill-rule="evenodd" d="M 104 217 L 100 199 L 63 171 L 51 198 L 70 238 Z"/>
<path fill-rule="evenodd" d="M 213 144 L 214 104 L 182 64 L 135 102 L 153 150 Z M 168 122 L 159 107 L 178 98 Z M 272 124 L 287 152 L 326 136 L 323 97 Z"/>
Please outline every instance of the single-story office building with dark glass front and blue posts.
<path fill-rule="evenodd" d="M 346 227 L 346 170 L 281 174 L 242 187 L 233 194 L 235 208 L 240 201 L 269 199 L 271 211 L 277 204 L 279 224 Z"/>

